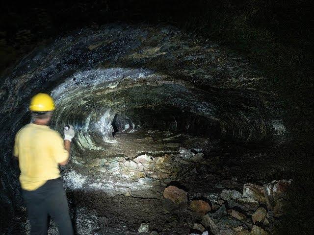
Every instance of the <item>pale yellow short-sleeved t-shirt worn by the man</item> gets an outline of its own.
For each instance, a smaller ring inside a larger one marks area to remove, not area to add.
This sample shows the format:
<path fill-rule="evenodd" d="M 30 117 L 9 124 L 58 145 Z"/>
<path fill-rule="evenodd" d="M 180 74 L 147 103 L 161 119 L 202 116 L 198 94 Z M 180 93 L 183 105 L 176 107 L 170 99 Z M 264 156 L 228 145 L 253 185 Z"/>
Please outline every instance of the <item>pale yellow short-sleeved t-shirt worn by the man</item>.
<path fill-rule="evenodd" d="M 47 180 L 60 177 L 58 163 L 69 157 L 58 132 L 33 123 L 16 134 L 13 154 L 19 158 L 20 182 L 26 190 L 35 190 Z"/>

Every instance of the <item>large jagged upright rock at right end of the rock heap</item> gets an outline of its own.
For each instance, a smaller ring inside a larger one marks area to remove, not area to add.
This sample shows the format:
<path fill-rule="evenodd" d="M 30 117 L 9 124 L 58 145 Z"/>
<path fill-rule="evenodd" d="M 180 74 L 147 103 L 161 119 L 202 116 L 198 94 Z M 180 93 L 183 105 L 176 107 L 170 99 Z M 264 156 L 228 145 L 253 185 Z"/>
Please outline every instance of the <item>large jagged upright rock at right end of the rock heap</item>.
<path fill-rule="evenodd" d="M 274 211 L 276 217 L 287 213 L 291 203 L 289 202 L 289 194 L 292 180 L 273 181 L 264 185 L 264 194 L 267 202 L 267 208 Z"/>

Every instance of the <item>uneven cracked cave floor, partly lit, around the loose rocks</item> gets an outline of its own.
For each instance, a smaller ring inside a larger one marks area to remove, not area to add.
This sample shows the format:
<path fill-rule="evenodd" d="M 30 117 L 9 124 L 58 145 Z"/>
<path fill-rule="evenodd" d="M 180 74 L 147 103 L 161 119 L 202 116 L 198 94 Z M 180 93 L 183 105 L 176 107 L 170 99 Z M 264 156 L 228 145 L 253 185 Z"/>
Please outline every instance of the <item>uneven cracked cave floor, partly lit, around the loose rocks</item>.
<path fill-rule="evenodd" d="M 280 158 L 270 164 L 270 151 L 262 146 L 235 147 L 168 131 L 117 133 L 115 140 L 104 143 L 105 150 L 74 156 L 62 168 L 76 234 L 133 235 L 139 234 L 142 222 L 149 222 L 150 231 L 156 229 L 161 235 L 187 235 L 202 217 L 188 207 L 169 210 L 163 197 L 167 186 L 180 185 L 189 201 L 206 199 L 214 207 L 224 188 L 241 192 L 244 183 L 262 185 L 289 171 L 282 169 L 285 164 Z M 202 152 L 204 158 L 184 160 L 179 147 Z M 138 168 L 141 163 L 127 164 L 138 156 L 154 160 L 143 163 L 144 169 Z M 20 227 L 26 226 L 22 231 L 27 231 L 25 213 L 23 217 Z M 49 234 L 57 234 L 53 222 Z"/>

